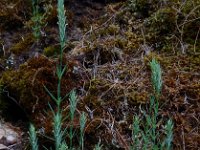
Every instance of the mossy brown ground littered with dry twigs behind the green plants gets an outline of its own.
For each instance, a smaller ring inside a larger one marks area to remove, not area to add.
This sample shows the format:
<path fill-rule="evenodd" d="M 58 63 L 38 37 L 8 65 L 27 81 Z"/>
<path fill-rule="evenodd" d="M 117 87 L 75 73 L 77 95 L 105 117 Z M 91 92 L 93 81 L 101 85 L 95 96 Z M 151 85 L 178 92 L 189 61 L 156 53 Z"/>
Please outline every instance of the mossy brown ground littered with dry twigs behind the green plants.
<path fill-rule="evenodd" d="M 63 63 L 68 69 L 62 94 L 77 91 L 75 129 L 79 128 L 79 112 L 88 115 L 86 149 L 93 149 L 99 141 L 103 149 L 129 149 L 133 116 L 142 116 L 140 108 L 149 106 L 153 93 L 149 62 L 155 58 L 163 79 L 159 118 L 174 122 L 173 149 L 198 150 L 200 2 L 141 1 L 133 6 L 123 0 L 71 0 L 65 6 L 68 26 Z M 39 7 L 44 18 L 41 37 L 35 40 L 31 2 L 0 1 L 0 149 L 29 149 L 30 122 L 38 128 L 41 144 L 52 142 L 44 134 L 51 133 L 48 103 L 54 104 L 44 85 L 56 93 L 56 2 L 44 0 Z M 68 107 L 66 100 L 64 114 Z M 158 125 L 158 130 L 162 127 Z M 16 141 L 5 141 L 7 129 Z"/>

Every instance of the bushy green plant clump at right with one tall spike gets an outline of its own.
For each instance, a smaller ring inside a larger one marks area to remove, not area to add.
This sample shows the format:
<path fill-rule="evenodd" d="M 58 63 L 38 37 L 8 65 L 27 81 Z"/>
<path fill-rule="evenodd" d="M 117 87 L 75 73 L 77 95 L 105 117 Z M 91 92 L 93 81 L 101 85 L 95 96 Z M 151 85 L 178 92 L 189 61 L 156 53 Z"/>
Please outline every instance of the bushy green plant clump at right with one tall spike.
<path fill-rule="evenodd" d="M 167 149 L 171 150 L 172 148 L 172 139 L 173 139 L 173 122 L 168 120 L 165 125 L 165 134 L 166 137 L 161 139 L 160 132 L 157 131 L 158 114 L 159 114 L 159 97 L 162 90 L 162 77 L 161 77 L 161 67 L 160 64 L 153 59 L 150 62 L 151 67 L 151 81 L 153 85 L 154 94 L 150 96 L 150 106 L 148 113 L 142 111 L 144 114 L 144 122 L 140 121 L 139 117 L 136 115 L 133 119 L 133 129 L 132 129 L 132 141 L 131 150 L 158 150 L 158 149 Z M 143 123 L 143 129 L 140 128 L 141 123 Z M 163 142 L 161 141 L 163 140 Z"/>

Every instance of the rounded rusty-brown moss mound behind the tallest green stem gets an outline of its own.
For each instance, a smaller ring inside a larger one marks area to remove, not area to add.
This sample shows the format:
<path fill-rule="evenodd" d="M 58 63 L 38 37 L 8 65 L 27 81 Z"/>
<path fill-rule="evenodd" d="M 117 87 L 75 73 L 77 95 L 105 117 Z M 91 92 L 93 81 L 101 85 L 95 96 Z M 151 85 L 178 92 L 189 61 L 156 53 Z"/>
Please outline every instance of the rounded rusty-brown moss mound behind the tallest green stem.
<path fill-rule="evenodd" d="M 64 62 L 66 63 L 66 60 Z M 6 88 L 10 96 L 14 97 L 16 102 L 24 108 L 29 119 L 40 127 L 47 125 L 47 120 L 40 120 L 40 118 L 47 118 L 44 110 L 49 109 L 48 103 L 51 103 L 54 108 L 54 103 L 45 91 L 44 86 L 48 87 L 52 93 L 56 93 L 55 66 L 55 61 L 39 56 L 31 58 L 18 70 L 5 71 L 0 78 L 0 85 Z M 73 63 L 69 62 L 68 72 L 66 72 L 62 81 L 62 96 L 80 84 L 77 80 L 78 75 L 75 76 L 72 73 L 72 67 Z M 67 101 L 63 105 L 67 107 Z"/>

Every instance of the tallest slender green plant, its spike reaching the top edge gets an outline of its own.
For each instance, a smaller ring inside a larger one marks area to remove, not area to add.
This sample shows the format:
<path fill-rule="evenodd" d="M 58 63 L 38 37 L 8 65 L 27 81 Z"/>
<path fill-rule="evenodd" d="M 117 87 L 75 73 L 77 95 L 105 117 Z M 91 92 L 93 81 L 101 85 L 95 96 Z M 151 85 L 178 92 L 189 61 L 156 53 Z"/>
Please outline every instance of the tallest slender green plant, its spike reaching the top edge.
<path fill-rule="evenodd" d="M 37 16 L 38 12 L 38 0 L 32 0 L 33 4 L 33 16 Z M 60 62 L 57 65 L 56 69 L 56 74 L 58 77 L 58 84 L 57 84 L 57 96 L 54 96 L 48 88 L 45 87 L 45 90 L 47 93 L 50 95 L 50 97 L 55 101 L 56 106 L 57 106 L 57 111 L 53 112 L 53 133 L 54 133 L 54 138 L 55 138 L 55 149 L 60 150 L 64 149 L 67 147 L 65 144 L 66 142 L 63 140 L 64 136 L 64 131 L 62 131 L 62 111 L 60 108 L 61 102 L 62 102 L 62 96 L 61 96 L 61 80 L 62 77 L 66 71 L 66 65 L 64 68 L 62 67 L 62 56 L 63 56 L 63 50 L 65 46 L 65 28 L 66 28 L 66 17 L 65 17 L 65 10 L 64 10 L 64 1 L 63 0 L 58 0 L 58 26 L 59 26 L 59 37 L 60 37 Z M 36 23 L 36 27 L 33 27 L 33 29 L 38 29 L 39 24 Z M 36 37 L 38 37 L 38 31 L 39 30 L 33 30 L 37 34 Z M 32 144 L 32 143 L 31 143 Z"/>

